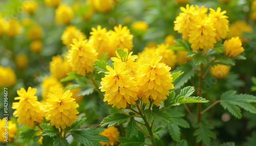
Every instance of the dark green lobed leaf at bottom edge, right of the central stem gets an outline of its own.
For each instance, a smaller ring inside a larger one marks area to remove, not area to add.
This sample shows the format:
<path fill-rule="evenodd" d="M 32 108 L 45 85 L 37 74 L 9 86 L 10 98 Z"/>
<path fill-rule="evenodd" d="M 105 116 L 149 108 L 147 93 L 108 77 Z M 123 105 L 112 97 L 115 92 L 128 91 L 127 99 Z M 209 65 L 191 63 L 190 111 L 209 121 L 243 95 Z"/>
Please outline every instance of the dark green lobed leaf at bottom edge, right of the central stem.
<path fill-rule="evenodd" d="M 211 138 L 216 138 L 214 132 L 211 131 L 214 127 L 205 123 L 195 124 L 197 130 L 194 136 L 197 136 L 197 142 L 203 141 L 206 146 L 210 145 Z"/>

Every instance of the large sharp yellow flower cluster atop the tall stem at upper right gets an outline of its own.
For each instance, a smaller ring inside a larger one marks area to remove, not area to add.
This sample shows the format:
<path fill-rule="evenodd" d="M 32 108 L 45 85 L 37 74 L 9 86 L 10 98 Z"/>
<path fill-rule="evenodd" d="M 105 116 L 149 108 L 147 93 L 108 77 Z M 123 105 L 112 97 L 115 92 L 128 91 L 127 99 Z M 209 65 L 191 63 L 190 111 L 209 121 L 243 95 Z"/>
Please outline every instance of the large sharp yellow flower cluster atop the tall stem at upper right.
<path fill-rule="evenodd" d="M 180 9 L 183 12 L 176 17 L 174 30 L 182 33 L 184 39 L 188 39 L 193 50 L 207 51 L 214 47 L 216 40 L 227 37 L 229 21 L 224 15 L 226 11 L 221 12 L 221 8 L 217 11 L 210 8 L 208 16 L 204 6 L 199 8 L 186 5 L 186 8 Z"/>

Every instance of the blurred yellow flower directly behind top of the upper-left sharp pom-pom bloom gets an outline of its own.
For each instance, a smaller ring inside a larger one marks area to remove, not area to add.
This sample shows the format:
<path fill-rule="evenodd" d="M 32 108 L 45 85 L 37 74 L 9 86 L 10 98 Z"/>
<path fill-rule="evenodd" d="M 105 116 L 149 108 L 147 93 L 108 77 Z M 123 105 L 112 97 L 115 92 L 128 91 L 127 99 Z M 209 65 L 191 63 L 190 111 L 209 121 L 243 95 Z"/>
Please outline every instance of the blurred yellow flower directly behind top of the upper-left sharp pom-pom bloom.
<path fill-rule="evenodd" d="M 76 29 L 76 27 L 70 25 L 66 27 L 66 30 L 62 33 L 61 40 L 63 44 L 70 48 L 70 44 L 73 44 L 73 39 L 79 39 L 79 37 L 86 39 L 86 35 L 84 35 L 80 30 Z"/>

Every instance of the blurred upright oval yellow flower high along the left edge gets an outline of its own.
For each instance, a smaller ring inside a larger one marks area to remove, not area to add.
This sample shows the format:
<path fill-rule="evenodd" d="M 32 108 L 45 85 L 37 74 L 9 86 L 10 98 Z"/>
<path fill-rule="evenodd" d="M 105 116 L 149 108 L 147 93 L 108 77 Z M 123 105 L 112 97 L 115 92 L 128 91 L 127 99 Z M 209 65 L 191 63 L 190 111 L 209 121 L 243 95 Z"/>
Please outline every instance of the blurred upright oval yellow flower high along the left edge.
<path fill-rule="evenodd" d="M 15 37 L 22 31 L 17 18 L 11 18 L 8 20 L 6 33 L 9 37 Z"/>

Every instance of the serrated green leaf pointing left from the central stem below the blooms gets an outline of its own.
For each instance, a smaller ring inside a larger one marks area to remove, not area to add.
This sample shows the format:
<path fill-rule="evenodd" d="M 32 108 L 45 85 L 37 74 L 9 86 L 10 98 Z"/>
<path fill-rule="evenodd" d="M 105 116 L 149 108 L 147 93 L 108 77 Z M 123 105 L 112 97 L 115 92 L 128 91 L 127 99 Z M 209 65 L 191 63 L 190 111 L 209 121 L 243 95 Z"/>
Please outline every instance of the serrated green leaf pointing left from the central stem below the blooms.
<path fill-rule="evenodd" d="M 132 115 L 133 116 L 133 115 Z M 123 123 L 127 118 L 132 117 L 123 113 L 114 113 L 112 115 L 106 116 L 100 123 L 101 127 L 114 126 L 115 124 Z"/>

